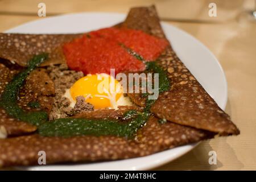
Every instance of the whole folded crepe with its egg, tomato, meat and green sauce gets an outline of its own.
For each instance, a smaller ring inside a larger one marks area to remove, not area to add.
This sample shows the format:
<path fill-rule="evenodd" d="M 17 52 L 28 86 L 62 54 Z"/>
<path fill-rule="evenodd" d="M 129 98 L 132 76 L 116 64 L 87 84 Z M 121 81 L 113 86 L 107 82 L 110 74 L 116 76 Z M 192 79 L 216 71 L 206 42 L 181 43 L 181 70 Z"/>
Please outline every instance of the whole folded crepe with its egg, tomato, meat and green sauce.
<path fill-rule="evenodd" d="M 1 167 L 36 165 L 42 150 L 47 164 L 117 160 L 240 133 L 177 57 L 154 6 L 85 34 L 0 42 Z M 157 97 L 134 82 L 139 92 L 125 92 L 131 73 L 151 76 Z"/>

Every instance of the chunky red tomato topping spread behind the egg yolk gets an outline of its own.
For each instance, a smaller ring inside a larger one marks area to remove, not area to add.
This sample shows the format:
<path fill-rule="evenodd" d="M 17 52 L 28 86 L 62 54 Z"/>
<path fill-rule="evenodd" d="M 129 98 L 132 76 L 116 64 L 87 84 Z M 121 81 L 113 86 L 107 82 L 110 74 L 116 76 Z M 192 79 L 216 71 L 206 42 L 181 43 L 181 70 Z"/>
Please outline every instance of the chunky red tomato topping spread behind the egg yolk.
<path fill-rule="evenodd" d="M 168 45 L 167 40 L 155 38 L 143 31 L 104 28 L 64 44 L 68 67 L 84 74 L 143 71 L 142 61 L 131 56 L 125 48 L 133 49 L 148 61 L 155 60 Z"/>

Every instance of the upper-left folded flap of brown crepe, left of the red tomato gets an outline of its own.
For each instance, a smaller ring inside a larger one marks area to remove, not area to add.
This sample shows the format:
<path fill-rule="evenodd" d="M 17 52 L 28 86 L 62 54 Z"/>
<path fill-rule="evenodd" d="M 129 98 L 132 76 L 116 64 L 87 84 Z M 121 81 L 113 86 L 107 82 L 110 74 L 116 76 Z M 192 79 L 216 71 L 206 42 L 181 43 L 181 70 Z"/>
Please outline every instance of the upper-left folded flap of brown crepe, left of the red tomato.
<path fill-rule="evenodd" d="M 49 59 L 42 65 L 65 63 L 61 46 L 82 34 L 0 34 L 0 57 L 23 67 L 34 55 L 47 52 Z"/>

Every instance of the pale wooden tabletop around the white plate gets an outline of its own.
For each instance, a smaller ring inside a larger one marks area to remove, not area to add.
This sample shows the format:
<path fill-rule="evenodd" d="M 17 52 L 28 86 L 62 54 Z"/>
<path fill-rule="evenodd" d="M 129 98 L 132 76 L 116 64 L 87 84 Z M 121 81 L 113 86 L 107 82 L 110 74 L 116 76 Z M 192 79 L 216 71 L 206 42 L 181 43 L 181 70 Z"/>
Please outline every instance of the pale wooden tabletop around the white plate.
<path fill-rule="evenodd" d="M 133 6 L 156 5 L 162 18 L 187 31 L 214 53 L 228 80 L 226 112 L 241 130 L 238 137 L 201 142 L 188 154 L 157 170 L 256 170 L 256 23 L 241 21 L 241 10 L 253 1 L 29 1 L 0 0 L 0 32 L 37 16 L 38 3 L 46 3 L 47 16 L 82 11 L 127 13 Z M 209 2 L 216 2 L 217 17 L 208 16 Z M 217 152 L 210 165 L 209 151 Z"/>

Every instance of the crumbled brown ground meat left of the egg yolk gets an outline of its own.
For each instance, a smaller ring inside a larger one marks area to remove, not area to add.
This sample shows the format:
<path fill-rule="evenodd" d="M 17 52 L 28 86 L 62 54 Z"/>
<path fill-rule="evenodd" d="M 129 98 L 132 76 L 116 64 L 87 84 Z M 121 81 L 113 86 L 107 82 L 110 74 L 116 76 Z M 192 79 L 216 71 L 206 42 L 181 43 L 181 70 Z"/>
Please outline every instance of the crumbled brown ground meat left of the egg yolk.
<path fill-rule="evenodd" d="M 69 106 L 71 102 L 63 96 L 66 89 L 71 88 L 79 78 L 84 76 L 82 72 L 71 71 L 65 64 L 49 65 L 47 72 L 55 84 L 55 98 L 49 120 L 67 118 L 82 111 L 94 110 L 93 105 L 86 103 L 82 96 L 76 98 L 75 107 Z"/>

